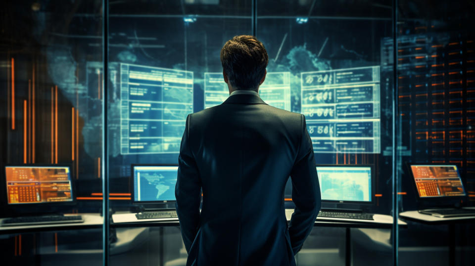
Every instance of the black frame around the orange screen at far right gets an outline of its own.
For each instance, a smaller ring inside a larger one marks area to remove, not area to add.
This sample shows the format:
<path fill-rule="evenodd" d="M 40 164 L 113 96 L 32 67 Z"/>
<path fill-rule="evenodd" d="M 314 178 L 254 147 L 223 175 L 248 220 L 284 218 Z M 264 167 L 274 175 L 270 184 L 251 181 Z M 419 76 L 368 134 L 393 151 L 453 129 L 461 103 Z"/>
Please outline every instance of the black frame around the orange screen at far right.
<path fill-rule="evenodd" d="M 419 195 L 419 191 L 417 189 L 416 179 L 414 178 L 414 174 L 412 172 L 412 167 L 411 166 L 413 166 L 413 165 L 420 165 L 420 166 L 436 166 L 436 165 L 456 166 L 457 167 L 457 173 L 459 174 L 460 181 L 462 182 L 462 188 L 464 189 L 465 195 L 464 196 L 421 197 Z M 438 203 L 438 204 L 435 204 L 435 205 L 444 205 L 444 203 L 445 204 L 447 204 L 447 203 L 456 203 L 456 202 L 464 200 L 468 197 L 467 190 L 465 189 L 466 184 L 464 183 L 464 178 L 462 177 L 462 175 L 460 173 L 460 164 L 457 164 L 457 163 L 412 163 L 411 162 L 411 163 L 406 163 L 406 166 L 407 166 L 407 169 L 408 169 L 408 172 L 409 172 L 409 176 L 411 178 L 412 188 L 414 189 L 414 193 L 416 194 L 418 202 L 420 202 L 420 203 L 432 203 L 432 204 Z"/>

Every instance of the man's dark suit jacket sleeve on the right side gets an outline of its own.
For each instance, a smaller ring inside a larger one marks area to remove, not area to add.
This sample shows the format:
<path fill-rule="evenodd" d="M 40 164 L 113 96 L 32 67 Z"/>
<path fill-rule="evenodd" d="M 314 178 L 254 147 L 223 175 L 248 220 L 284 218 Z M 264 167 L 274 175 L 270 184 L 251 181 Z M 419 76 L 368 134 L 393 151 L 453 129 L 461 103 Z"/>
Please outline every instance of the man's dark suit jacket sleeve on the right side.
<path fill-rule="evenodd" d="M 288 226 L 290 243 L 296 254 L 312 230 L 321 207 L 320 185 L 313 154 L 312 140 L 302 115 L 301 140 L 297 158 L 290 173 L 292 201 L 295 210 Z"/>

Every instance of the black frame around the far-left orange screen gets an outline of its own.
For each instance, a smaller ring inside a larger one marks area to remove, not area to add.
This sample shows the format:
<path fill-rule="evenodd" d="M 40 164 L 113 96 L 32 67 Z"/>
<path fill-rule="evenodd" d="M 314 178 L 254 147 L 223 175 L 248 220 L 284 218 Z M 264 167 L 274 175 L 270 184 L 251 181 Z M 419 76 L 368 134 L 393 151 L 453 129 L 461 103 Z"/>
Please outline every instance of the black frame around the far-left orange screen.
<path fill-rule="evenodd" d="M 41 203 L 19 203 L 9 204 L 8 194 L 6 188 L 6 168 L 7 167 L 68 167 L 71 181 L 71 201 L 59 201 L 59 202 L 41 202 Z M 4 164 L 3 174 L 0 177 L 1 191 L 5 195 L 1 197 L 1 204 L 12 214 L 45 214 L 45 213 L 61 213 L 65 210 L 69 210 L 76 206 L 76 179 L 72 171 L 72 163 L 61 164 Z"/>

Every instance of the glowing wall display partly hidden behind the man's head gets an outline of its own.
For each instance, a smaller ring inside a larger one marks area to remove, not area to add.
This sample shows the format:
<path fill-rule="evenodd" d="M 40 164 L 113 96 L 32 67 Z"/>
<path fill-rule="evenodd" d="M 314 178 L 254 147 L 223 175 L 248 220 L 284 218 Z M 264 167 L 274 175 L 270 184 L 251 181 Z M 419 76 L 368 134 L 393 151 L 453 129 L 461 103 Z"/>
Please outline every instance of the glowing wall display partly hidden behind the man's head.
<path fill-rule="evenodd" d="M 269 72 L 259 87 L 259 96 L 267 104 L 290 111 L 290 73 Z M 223 103 L 229 97 L 223 73 L 204 73 L 204 108 Z"/>

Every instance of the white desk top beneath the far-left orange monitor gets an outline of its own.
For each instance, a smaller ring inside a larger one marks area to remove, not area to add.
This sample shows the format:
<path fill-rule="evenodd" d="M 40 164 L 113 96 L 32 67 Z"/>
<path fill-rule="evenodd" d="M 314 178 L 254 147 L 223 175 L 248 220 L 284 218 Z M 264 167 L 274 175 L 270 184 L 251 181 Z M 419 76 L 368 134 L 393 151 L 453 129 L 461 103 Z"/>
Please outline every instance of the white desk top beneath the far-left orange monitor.
<path fill-rule="evenodd" d="M 99 228 L 102 226 L 104 219 L 100 214 L 78 214 L 83 217 L 84 222 L 73 223 L 52 223 L 52 224 L 32 224 L 19 226 L 0 226 L 0 234 L 10 234 L 17 232 L 38 232 L 38 231 L 55 231 L 55 230 L 71 230 L 71 229 L 87 229 Z M 0 219 L 0 224 L 5 218 Z"/>

